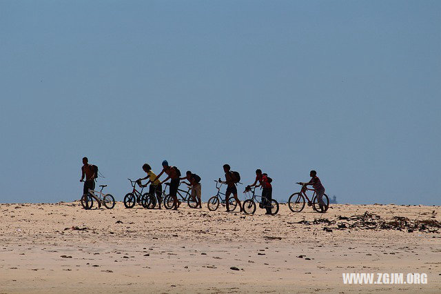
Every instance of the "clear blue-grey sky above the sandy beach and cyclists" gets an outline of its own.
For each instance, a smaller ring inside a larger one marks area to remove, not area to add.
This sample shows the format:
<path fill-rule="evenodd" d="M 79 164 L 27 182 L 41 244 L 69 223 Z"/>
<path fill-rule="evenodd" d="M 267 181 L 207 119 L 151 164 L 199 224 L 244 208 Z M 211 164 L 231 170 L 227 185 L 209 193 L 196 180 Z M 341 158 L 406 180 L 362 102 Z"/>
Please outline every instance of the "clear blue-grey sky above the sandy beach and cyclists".
<path fill-rule="evenodd" d="M 0 0 L 0 202 L 122 200 L 163 159 L 315 169 L 340 203 L 441 204 L 441 1 Z M 240 188 L 240 191 L 243 187 Z M 240 193 L 241 194 L 241 193 Z"/>

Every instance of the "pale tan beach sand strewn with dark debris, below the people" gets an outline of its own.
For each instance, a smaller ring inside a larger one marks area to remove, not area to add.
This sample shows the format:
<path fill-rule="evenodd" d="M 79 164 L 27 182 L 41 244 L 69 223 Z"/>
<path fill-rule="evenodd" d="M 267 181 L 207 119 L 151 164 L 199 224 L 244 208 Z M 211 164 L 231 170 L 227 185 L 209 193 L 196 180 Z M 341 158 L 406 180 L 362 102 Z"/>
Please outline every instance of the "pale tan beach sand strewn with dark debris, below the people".
<path fill-rule="evenodd" d="M 311 223 L 365 211 L 440 222 L 440 206 L 334 204 L 322 215 L 281 204 L 276 216 L 224 210 L 0 204 L 0 293 L 440 293 L 441 232 Z M 342 273 L 428 277 L 427 284 L 348 285 Z"/>

